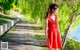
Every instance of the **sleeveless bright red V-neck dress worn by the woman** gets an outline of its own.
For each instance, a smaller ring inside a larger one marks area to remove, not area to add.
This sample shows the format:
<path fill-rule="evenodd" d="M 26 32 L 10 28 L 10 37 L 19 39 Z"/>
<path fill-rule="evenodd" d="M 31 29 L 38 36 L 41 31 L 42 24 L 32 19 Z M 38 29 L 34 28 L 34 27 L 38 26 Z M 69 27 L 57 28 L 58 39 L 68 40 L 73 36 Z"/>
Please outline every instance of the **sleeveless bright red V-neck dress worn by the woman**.
<path fill-rule="evenodd" d="M 62 48 L 61 36 L 58 27 L 58 17 L 55 15 L 55 20 L 50 16 L 48 19 L 48 30 L 47 30 L 47 47 L 48 48 Z"/>

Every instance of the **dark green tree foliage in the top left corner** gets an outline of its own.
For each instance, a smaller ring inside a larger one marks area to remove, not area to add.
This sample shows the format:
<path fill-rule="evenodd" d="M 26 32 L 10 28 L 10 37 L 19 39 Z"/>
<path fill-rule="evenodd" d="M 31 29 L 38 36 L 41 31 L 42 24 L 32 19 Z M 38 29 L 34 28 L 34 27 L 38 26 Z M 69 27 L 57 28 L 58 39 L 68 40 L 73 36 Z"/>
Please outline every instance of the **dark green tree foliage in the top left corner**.
<path fill-rule="evenodd" d="M 12 3 L 15 0 L 0 0 L 0 7 L 3 9 L 4 13 L 9 13 L 8 11 L 13 7 Z"/>

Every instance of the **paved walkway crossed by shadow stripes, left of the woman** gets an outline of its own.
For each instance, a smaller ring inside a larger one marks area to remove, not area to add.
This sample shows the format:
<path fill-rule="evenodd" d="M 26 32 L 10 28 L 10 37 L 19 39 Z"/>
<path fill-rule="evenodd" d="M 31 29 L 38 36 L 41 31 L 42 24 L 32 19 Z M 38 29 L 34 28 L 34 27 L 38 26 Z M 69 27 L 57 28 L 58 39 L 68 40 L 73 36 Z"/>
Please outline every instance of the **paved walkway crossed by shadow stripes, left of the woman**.
<path fill-rule="evenodd" d="M 42 47 L 36 46 L 34 32 L 31 24 L 25 21 L 18 22 L 3 38 L 8 42 L 8 50 L 43 50 Z"/>

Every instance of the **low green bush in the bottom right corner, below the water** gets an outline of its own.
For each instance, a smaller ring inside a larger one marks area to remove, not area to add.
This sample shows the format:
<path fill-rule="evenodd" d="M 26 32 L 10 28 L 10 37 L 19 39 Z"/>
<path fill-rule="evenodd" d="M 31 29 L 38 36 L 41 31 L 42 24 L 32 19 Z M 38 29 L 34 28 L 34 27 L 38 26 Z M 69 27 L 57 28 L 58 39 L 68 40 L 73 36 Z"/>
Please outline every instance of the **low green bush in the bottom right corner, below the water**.
<path fill-rule="evenodd" d="M 80 49 L 80 42 L 77 42 L 72 39 L 67 39 L 65 50 L 79 50 L 79 49 Z"/>

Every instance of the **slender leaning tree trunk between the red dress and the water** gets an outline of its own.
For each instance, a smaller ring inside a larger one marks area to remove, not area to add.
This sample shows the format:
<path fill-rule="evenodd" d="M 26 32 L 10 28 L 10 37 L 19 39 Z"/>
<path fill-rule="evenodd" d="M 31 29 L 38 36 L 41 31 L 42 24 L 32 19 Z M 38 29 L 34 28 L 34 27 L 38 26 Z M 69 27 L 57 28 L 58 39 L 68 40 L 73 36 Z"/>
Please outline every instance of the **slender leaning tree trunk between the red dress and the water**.
<path fill-rule="evenodd" d="M 65 44 L 66 44 L 66 40 L 67 40 L 67 34 L 68 34 L 68 31 L 69 29 L 71 28 L 72 24 L 74 23 L 74 21 L 76 21 L 77 19 L 77 15 L 74 16 L 74 12 L 76 11 L 73 11 L 72 13 L 72 16 L 71 16 L 71 19 L 70 19 L 70 24 L 68 25 L 68 27 L 66 28 L 65 32 L 64 32 L 64 35 L 62 37 L 62 50 L 64 50 L 64 47 L 65 47 Z"/>

